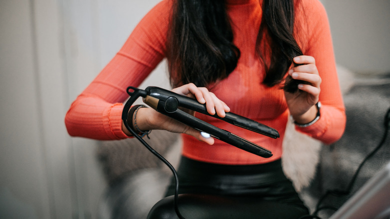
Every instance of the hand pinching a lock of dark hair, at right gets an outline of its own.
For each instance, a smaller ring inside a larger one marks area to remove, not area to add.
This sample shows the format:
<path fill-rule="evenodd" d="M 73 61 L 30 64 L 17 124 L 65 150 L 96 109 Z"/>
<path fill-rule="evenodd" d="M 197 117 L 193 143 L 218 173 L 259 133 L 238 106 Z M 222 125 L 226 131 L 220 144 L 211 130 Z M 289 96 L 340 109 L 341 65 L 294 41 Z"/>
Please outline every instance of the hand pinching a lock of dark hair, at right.
<path fill-rule="evenodd" d="M 319 85 L 321 77 L 315 66 L 315 59 L 312 56 L 300 55 L 293 58 L 296 67 L 292 67 L 288 74 L 297 80 L 303 80 L 305 83 L 298 85 L 299 91 L 290 93 L 284 92 L 287 106 L 293 119 L 301 124 L 312 121 L 316 114 L 317 108 L 315 103 L 318 102 L 320 92 Z"/>

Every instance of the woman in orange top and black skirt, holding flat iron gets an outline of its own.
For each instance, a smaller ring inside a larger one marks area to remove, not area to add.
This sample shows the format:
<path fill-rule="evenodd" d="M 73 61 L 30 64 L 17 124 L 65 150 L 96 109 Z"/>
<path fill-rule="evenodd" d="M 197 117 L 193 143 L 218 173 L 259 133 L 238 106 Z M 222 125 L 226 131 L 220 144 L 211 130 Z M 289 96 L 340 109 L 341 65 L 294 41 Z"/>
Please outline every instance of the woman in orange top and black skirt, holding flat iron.
<path fill-rule="evenodd" d="M 72 103 L 65 117 L 69 134 L 130 137 L 121 120 L 126 87 L 138 86 L 164 57 L 174 92 L 205 103 L 210 114 L 223 117 L 232 111 L 280 133 L 272 139 L 196 114 L 272 151 L 272 157 L 262 158 L 203 137 L 151 108 L 138 108 L 132 127 L 140 134 L 151 129 L 184 133 L 180 193 L 254 198 L 252 210 L 262 212 L 254 218 L 307 214 L 281 169 L 287 116 L 297 130 L 324 143 L 336 141 L 345 125 L 330 30 L 320 2 L 162 0 Z M 167 195 L 172 192 L 170 186 Z M 157 206 L 155 212 L 163 208 Z"/>

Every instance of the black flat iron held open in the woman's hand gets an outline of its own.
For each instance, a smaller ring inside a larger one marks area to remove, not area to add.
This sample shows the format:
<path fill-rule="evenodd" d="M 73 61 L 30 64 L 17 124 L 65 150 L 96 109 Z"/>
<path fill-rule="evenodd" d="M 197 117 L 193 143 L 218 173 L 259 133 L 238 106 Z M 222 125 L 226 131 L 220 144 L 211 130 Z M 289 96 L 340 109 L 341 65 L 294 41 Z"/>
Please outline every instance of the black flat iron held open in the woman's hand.
<path fill-rule="evenodd" d="M 130 95 L 130 98 L 123 107 L 122 120 L 124 121 L 126 128 L 129 129 L 129 131 L 134 136 L 136 134 L 133 133 L 131 128 L 127 127 L 127 113 L 134 101 L 138 97 L 142 97 L 143 102 L 149 105 L 151 108 L 192 128 L 206 132 L 219 140 L 258 156 L 265 158 L 272 156 L 272 152 L 270 150 L 233 133 L 230 133 L 229 131 L 215 127 L 199 118 L 196 118 L 195 116 L 184 112 L 180 108 L 187 108 L 193 111 L 197 111 L 268 137 L 279 137 L 277 130 L 271 127 L 249 118 L 234 114 L 232 112 L 226 112 L 225 117 L 219 117 L 216 115 L 216 113 L 211 115 L 207 112 L 205 104 L 199 103 L 196 99 L 183 96 L 156 86 L 148 86 L 144 90 L 129 86 L 127 87 L 126 91 Z"/>

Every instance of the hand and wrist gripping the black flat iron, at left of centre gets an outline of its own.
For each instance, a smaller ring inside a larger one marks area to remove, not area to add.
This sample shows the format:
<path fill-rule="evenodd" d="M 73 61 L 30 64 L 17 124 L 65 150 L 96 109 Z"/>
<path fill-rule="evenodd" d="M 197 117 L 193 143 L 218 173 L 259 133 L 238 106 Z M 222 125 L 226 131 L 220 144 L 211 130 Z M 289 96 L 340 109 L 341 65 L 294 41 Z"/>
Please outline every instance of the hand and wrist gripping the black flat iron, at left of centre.
<path fill-rule="evenodd" d="M 219 117 L 224 117 L 225 112 L 230 111 L 230 108 L 222 100 L 218 99 L 214 93 L 208 91 L 205 87 L 196 87 L 193 83 L 188 83 L 172 89 L 173 92 L 195 98 L 200 103 L 206 104 L 206 109 L 209 114 L 217 114 Z M 192 113 L 192 112 L 189 112 Z M 155 111 L 152 108 L 139 108 L 136 115 L 137 125 L 141 130 L 164 129 L 176 133 L 185 133 L 194 136 L 198 140 L 208 144 L 213 144 L 212 137 L 205 138 L 200 134 L 200 131 L 191 128 L 181 122 L 178 122 L 164 114 Z M 122 130 L 127 135 L 131 135 L 122 124 Z"/>

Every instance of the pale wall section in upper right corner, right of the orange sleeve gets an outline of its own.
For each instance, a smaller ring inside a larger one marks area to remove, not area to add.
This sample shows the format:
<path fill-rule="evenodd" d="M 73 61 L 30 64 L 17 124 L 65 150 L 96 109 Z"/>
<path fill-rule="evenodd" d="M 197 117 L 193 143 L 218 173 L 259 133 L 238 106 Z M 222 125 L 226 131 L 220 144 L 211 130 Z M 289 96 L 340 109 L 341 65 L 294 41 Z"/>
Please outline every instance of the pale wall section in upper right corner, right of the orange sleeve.
<path fill-rule="evenodd" d="M 360 74 L 390 72 L 390 0 L 321 0 L 338 64 Z"/>

